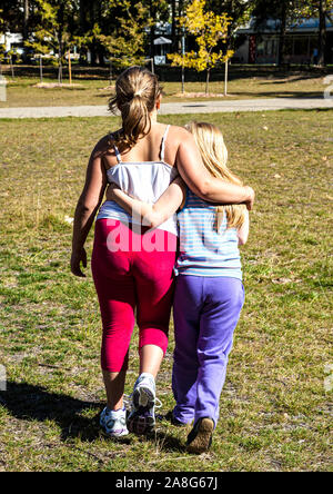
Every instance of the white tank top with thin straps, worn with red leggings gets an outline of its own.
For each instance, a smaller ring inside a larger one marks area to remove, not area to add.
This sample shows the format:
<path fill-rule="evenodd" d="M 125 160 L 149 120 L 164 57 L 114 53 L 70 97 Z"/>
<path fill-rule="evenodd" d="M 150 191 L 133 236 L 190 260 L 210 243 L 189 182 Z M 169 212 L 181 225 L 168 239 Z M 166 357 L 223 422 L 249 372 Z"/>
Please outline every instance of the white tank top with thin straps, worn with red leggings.
<path fill-rule="evenodd" d="M 107 171 L 109 182 L 117 184 L 121 190 L 135 199 L 149 204 L 157 202 L 179 175 L 175 167 L 164 161 L 165 141 L 170 126 L 167 127 L 161 142 L 161 161 L 123 162 L 117 146 L 114 146 L 118 164 Z M 122 223 L 141 224 L 140 218 L 132 217 L 117 202 L 111 200 L 107 200 L 101 206 L 97 217 L 97 220 L 99 219 L 115 219 Z M 159 229 L 178 235 L 176 215 L 173 215 L 163 223 Z"/>

